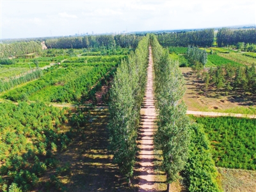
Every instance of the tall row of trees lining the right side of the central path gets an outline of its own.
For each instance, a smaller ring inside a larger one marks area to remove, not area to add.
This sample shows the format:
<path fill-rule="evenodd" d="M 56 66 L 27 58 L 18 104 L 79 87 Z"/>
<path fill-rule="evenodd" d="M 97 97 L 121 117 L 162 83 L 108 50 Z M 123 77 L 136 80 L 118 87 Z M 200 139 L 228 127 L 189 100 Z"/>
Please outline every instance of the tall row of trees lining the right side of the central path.
<path fill-rule="evenodd" d="M 188 157 L 189 120 L 184 102 L 178 101 L 184 95 L 184 79 L 179 63 L 170 60 L 167 50 L 163 51 L 156 36 L 150 36 L 152 45 L 157 108 L 157 132 L 154 135 L 156 149 L 163 151 L 161 168 L 166 172 L 168 189 L 178 178 Z"/>

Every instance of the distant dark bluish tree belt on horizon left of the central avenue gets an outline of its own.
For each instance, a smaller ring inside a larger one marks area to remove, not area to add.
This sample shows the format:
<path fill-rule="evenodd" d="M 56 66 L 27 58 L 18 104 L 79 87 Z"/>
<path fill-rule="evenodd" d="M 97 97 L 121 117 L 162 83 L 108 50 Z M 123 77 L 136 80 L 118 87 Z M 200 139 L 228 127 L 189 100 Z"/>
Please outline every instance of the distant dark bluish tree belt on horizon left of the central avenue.
<path fill-rule="evenodd" d="M 97 47 L 131 47 L 136 48 L 142 36 L 138 35 L 89 35 L 68 38 L 55 38 L 45 41 L 48 48 L 55 49 L 82 49 Z"/>

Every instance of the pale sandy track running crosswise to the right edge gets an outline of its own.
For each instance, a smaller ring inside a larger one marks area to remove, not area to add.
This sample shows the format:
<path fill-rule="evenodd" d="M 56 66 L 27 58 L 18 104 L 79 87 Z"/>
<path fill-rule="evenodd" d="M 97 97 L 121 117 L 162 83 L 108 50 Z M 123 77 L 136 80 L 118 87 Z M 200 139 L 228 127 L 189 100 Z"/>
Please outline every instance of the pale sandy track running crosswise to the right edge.
<path fill-rule="evenodd" d="M 205 112 L 205 111 L 187 111 L 187 115 L 198 115 L 198 116 L 236 116 L 236 117 L 247 117 L 256 118 L 256 115 L 246 115 L 240 113 L 218 113 L 218 112 Z"/>

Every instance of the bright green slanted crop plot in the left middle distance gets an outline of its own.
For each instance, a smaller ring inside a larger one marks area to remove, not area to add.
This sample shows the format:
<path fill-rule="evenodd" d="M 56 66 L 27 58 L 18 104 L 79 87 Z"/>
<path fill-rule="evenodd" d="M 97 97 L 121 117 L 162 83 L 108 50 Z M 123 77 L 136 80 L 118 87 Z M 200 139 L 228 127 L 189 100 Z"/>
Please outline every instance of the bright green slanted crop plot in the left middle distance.
<path fill-rule="evenodd" d="M 87 97 L 92 86 L 114 68 L 116 63 L 102 65 L 68 65 L 47 68 L 45 75 L 36 81 L 4 93 L 4 99 L 44 100 L 48 102 L 74 102 Z"/>

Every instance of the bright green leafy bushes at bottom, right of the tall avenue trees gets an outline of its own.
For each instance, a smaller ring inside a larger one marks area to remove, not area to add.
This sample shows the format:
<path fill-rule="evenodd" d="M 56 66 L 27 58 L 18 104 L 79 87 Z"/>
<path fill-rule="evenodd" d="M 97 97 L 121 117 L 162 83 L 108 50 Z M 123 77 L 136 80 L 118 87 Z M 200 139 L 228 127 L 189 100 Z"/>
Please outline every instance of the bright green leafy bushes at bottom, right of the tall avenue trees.
<path fill-rule="evenodd" d="M 220 191 L 216 184 L 216 168 L 212 161 L 210 143 L 202 126 L 192 124 L 190 127 L 191 143 L 188 162 L 182 171 L 188 190 Z"/>

